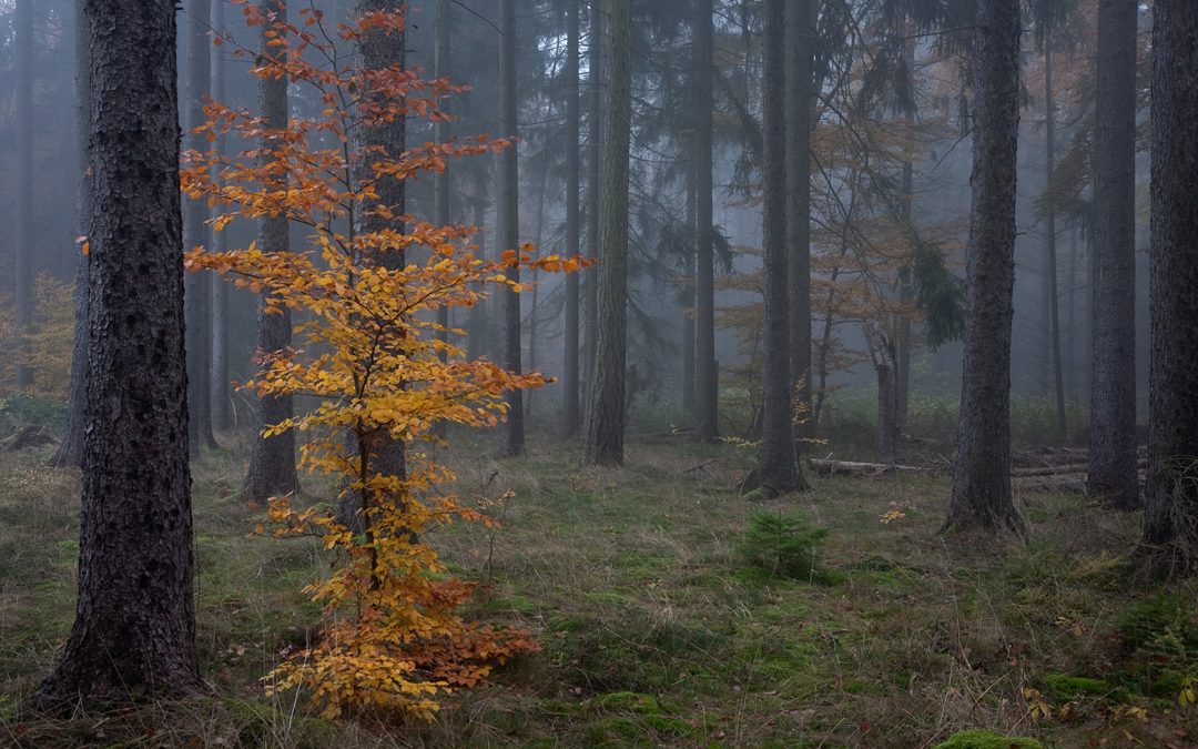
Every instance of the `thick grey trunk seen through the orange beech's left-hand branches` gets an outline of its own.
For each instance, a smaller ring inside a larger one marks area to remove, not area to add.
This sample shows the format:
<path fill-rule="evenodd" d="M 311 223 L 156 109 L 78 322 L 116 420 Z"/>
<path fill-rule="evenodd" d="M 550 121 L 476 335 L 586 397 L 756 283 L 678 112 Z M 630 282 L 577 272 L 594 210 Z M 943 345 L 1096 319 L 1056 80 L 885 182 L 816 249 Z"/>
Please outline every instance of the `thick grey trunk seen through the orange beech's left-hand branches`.
<path fill-rule="evenodd" d="M 260 0 L 259 7 L 264 16 L 286 17 L 285 0 Z M 261 26 L 260 54 L 273 54 L 267 46 L 268 25 Z M 268 131 L 282 131 L 288 127 L 288 81 L 285 78 L 260 78 L 258 81 L 258 107 Z M 264 150 L 273 146 L 272 137 L 262 138 Z M 262 164 L 272 161 L 270 153 L 261 157 Z M 284 185 L 279 185 L 284 188 Z M 264 253 L 288 252 L 288 219 L 283 217 L 262 217 L 258 221 L 258 247 Z M 268 312 L 267 296 L 264 292 L 258 304 L 258 354 L 268 355 L 283 351 L 291 345 L 291 312 L 282 307 L 278 312 Z M 267 395 L 258 399 L 254 413 L 254 446 L 249 454 L 249 471 L 246 473 L 246 487 L 242 499 L 247 503 L 262 503 L 272 496 L 296 491 L 300 487 L 296 477 L 296 437 L 291 430 L 267 437 L 262 434 L 266 427 L 279 424 L 294 415 L 291 395 Z"/>

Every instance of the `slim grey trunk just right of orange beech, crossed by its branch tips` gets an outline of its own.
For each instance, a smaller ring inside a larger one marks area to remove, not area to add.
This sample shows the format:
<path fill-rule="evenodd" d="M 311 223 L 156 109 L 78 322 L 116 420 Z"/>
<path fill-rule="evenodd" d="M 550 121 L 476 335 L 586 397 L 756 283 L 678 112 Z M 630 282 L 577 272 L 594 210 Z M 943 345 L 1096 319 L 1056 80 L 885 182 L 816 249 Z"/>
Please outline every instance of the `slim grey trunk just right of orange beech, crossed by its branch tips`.
<path fill-rule="evenodd" d="M 500 0 L 500 135 L 516 140 L 520 126 L 516 119 L 516 6 L 515 0 Z M 520 150 L 515 144 L 500 155 L 498 252 L 520 252 Z M 508 280 L 520 283 L 520 268 L 507 271 Z M 500 328 L 501 362 L 510 373 L 521 374 L 520 295 L 510 289 L 497 291 L 502 303 L 503 324 Z M 502 427 L 500 454 L 522 455 L 525 452 L 524 391 L 510 389 L 504 394 L 508 404 L 507 421 Z"/>

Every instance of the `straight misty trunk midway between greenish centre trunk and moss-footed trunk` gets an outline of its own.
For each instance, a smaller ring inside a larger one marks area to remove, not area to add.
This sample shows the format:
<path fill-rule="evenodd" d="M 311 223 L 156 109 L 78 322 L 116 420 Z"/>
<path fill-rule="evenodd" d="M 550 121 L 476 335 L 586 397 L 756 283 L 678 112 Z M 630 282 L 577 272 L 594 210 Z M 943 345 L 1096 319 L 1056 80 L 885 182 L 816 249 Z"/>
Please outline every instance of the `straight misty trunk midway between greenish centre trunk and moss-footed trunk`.
<path fill-rule="evenodd" d="M 695 17 L 695 415 L 700 440 L 720 437 L 719 372 L 715 366 L 715 256 L 713 209 L 714 2 L 701 0 Z"/>

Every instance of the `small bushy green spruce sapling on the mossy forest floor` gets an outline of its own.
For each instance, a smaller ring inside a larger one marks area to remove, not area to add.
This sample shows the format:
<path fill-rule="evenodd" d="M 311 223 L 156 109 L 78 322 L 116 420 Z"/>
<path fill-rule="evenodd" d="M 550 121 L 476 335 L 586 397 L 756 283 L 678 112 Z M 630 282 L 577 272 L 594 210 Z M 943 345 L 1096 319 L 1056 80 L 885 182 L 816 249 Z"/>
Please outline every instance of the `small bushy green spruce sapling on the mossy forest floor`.
<path fill-rule="evenodd" d="M 828 531 L 803 515 L 755 512 L 738 545 L 740 557 L 772 575 L 807 580 L 819 566 L 819 546 Z"/>

